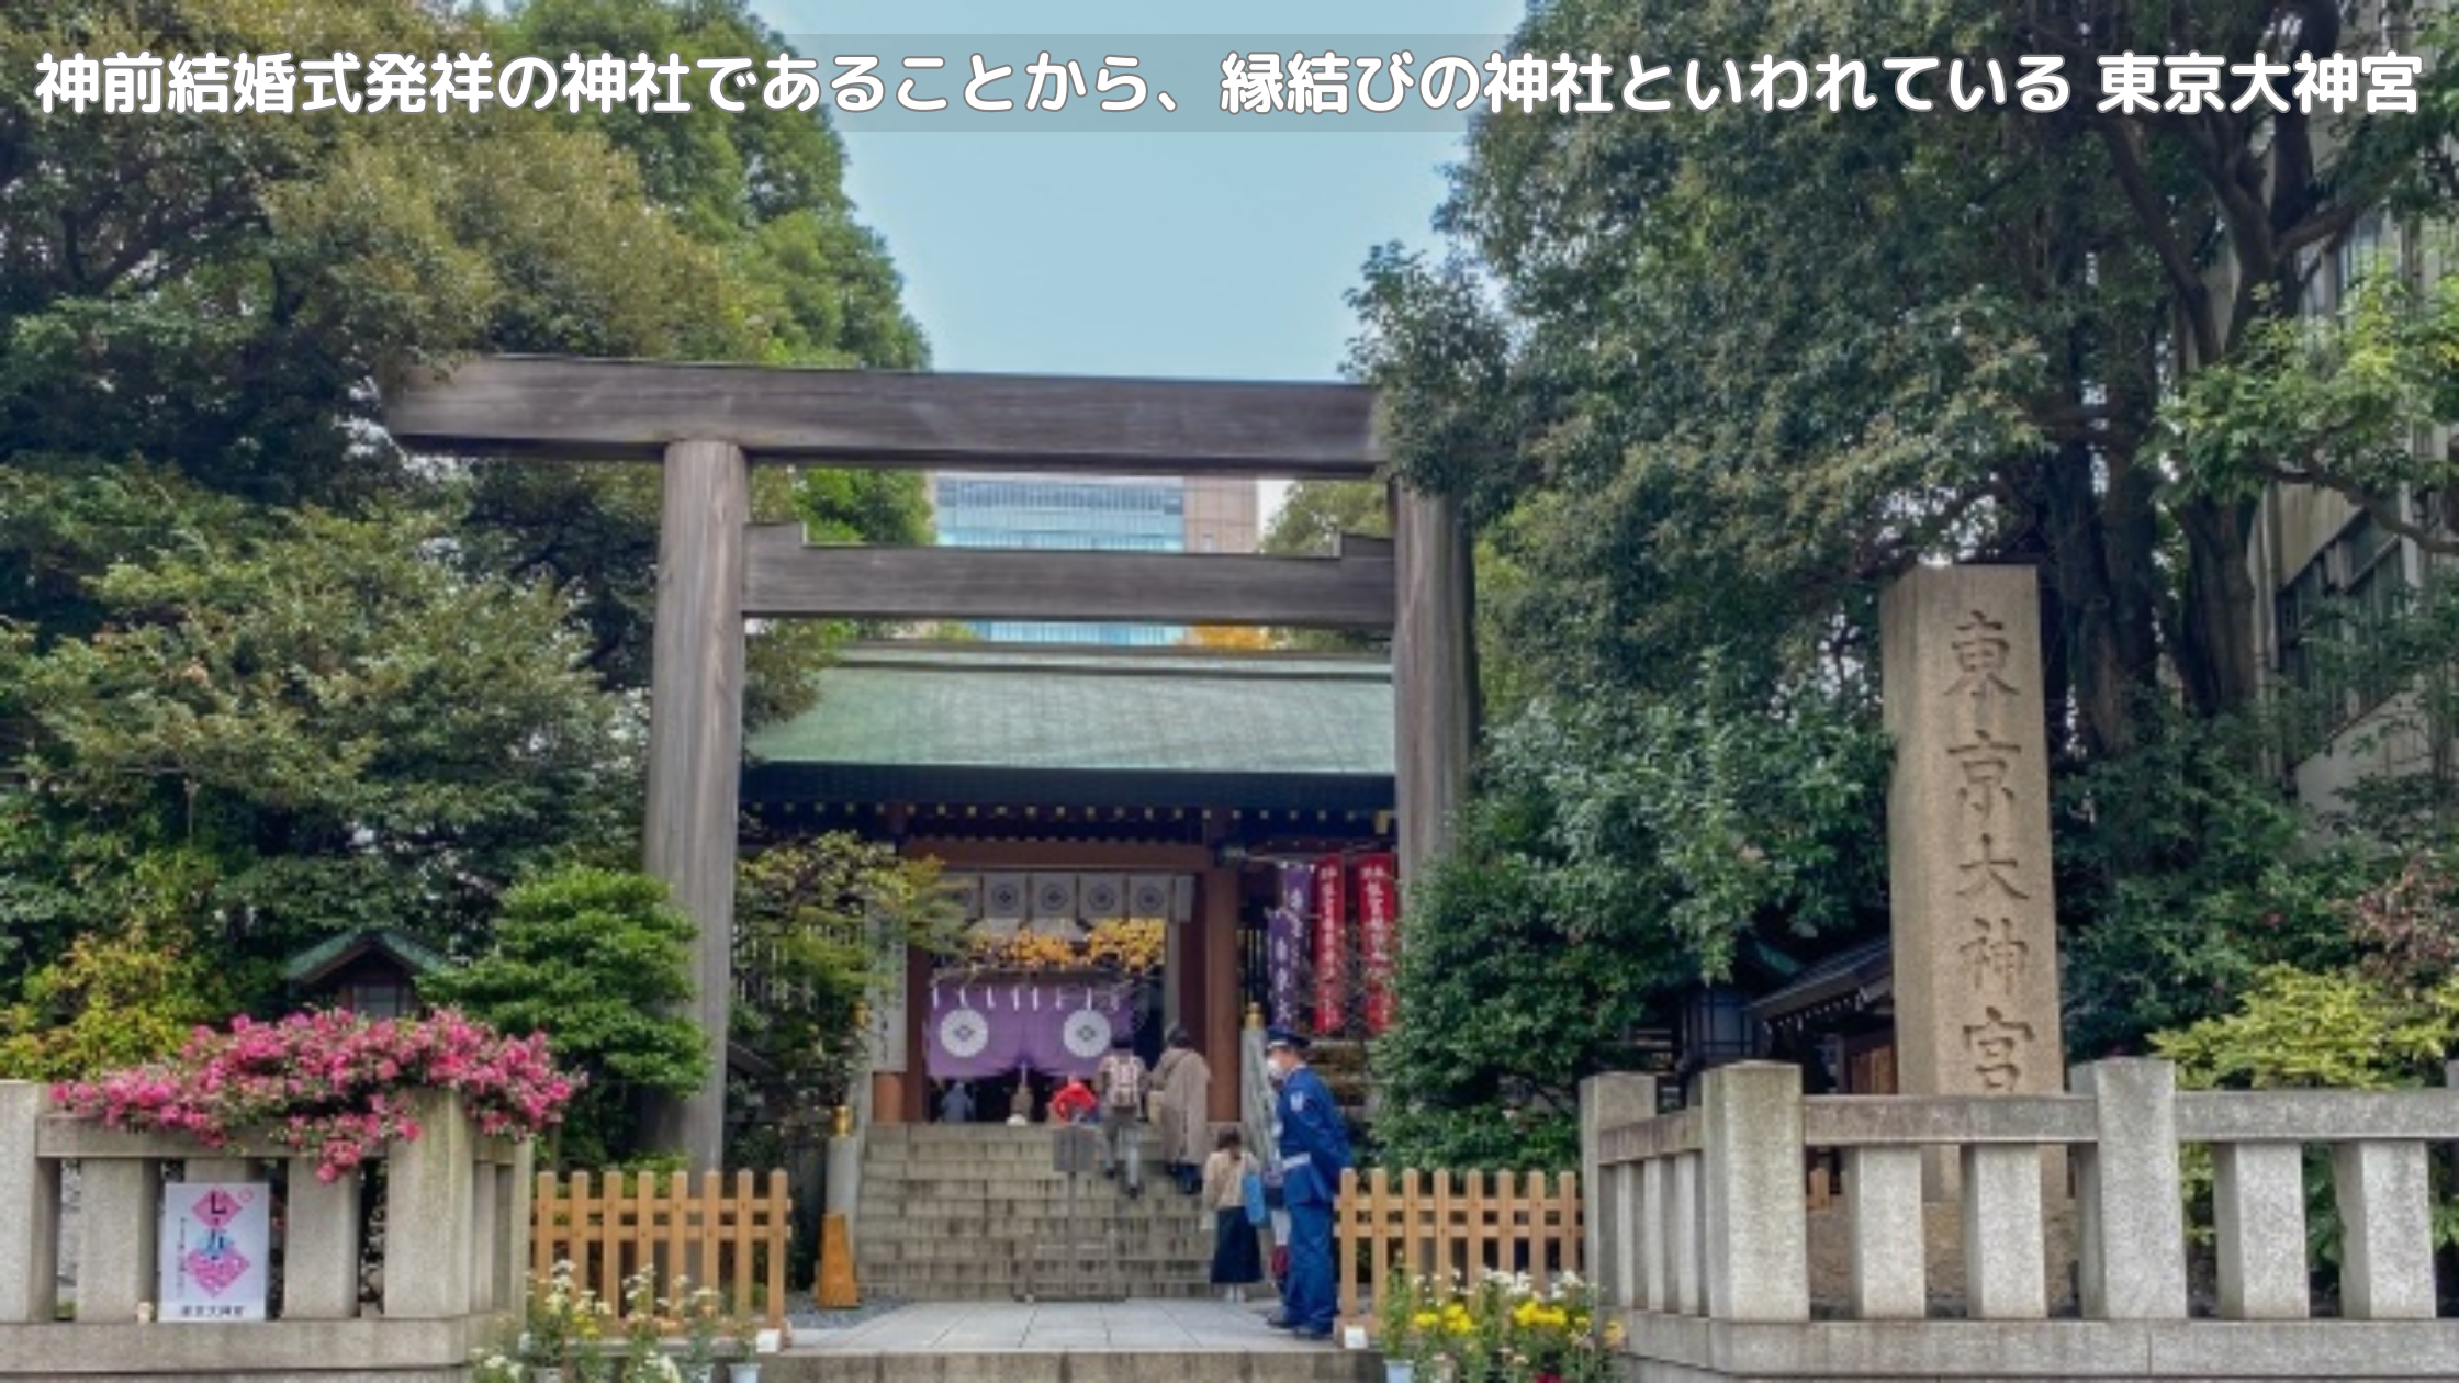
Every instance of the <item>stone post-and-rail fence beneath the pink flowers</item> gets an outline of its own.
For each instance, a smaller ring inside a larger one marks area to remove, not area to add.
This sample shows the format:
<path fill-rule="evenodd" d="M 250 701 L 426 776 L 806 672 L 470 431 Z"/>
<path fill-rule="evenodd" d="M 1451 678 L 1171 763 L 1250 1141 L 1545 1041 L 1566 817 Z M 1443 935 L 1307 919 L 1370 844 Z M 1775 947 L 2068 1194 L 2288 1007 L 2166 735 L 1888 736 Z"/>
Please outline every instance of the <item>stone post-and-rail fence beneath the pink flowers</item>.
<path fill-rule="evenodd" d="M 42 1085 L 0 1080 L 0 1378 L 465 1378 L 521 1304 L 531 1149 L 480 1137 L 457 1095 L 418 1105 L 425 1132 L 386 1149 L 384 1289 L 361 1304 L 359 1179 L 320 1181 L 283 1149 L 101 1130 L 54 1115 Z M 275 1162 L 273 1319 L 152 1321 L 165 1176 L 266 1181 Z"/>

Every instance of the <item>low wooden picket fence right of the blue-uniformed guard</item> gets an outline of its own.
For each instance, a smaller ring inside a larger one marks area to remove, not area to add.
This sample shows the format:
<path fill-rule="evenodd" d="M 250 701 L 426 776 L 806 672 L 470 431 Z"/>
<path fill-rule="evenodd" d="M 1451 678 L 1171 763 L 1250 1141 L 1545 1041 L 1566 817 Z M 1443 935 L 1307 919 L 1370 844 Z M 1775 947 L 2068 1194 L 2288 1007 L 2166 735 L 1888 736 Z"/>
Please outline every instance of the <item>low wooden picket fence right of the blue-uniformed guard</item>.
<path fill-rule="evenodd" d="M 1473 1282 L 1478 1272 L 1527 1272 L 1542 1292 L 1559 1272 L 1581 1272 L 1579 1176 L 1544 1171 L 1340 1174 L 1333 1208 L 1333 1275 L 1340 1321 L 1375 1329 L 1372 1302 L 1392 1272 Z"/>

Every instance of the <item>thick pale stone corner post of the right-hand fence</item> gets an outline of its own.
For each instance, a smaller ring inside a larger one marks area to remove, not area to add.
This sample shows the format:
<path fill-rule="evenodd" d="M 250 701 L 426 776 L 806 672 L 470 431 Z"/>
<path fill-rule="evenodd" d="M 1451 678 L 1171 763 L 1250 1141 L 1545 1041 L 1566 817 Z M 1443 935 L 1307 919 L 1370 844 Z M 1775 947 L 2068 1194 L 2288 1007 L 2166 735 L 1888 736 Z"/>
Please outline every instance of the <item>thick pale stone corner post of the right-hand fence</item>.
<path fill-rule="evenodd" d="M 1702 1090 L 1707 1314 L 1716 1321 L 1807 1321 L 1802 1068 L 1778 1061 L 1719 1066 Z"/>

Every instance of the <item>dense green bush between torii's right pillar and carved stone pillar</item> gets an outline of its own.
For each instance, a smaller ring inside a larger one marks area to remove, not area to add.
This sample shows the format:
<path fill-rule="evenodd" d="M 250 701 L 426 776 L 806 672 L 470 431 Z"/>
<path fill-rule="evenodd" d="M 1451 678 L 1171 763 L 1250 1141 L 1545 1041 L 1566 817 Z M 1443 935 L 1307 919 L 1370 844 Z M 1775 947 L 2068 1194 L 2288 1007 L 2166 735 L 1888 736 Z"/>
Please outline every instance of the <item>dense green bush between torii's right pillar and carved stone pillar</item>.
<path fill-rule="evenodd" d="M 1864 714 L 1812 696 L 1498 728 L 1453 854 L 1409 893 L 1375 1048 L 1389 1159 L 1571 1166 L 1579 1080 L 1672 989 L 1881 915 L 1884 763 Z"/>

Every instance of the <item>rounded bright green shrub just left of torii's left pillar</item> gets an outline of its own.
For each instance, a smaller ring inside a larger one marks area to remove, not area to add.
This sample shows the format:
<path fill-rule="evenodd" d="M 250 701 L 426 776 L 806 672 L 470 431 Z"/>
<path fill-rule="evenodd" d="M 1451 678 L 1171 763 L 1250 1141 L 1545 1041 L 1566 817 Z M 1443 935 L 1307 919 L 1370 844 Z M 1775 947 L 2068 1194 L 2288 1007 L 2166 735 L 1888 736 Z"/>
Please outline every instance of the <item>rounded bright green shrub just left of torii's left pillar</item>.
<path fill-rule="evenodd" d="M 632 1147 L 630 1100 L 696 1090 L 708 1048 L 689 1016 L 691 918 L 642 874 L 561 866 L 504 896 L 494 947 L 430 974 L 425 997 L 507 1031 L 543 1031 L 585 1075 L 558 1154 L 602 1164 Z"/>

